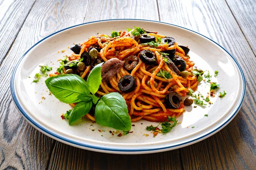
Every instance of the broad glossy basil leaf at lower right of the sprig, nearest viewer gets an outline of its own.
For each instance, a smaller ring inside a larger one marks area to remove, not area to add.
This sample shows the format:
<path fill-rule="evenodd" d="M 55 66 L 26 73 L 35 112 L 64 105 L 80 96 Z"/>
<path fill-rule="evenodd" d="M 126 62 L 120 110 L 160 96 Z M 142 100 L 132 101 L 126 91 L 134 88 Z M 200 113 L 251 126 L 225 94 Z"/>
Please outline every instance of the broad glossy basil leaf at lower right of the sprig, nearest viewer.
<path fill-rule="evenodd" d="M 131 119 L 125 99 L 121 94 L 112 92 L 104 95 L 95 108 L 96 123 L 117 130 L 131 130 Z"/>

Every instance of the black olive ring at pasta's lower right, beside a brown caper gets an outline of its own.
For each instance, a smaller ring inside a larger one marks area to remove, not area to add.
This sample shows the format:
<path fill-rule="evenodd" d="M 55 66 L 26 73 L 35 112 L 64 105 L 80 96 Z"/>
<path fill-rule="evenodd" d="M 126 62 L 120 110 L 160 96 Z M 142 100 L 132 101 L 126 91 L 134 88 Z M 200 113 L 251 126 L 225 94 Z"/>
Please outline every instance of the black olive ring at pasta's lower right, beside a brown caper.
<path fill-rule="evenodd" d="M 180 102 L 182 102 L 181 96 L 177 94 L 175 91 L 170 91 L 170 93 L 166 96 L 165 104 L 167 108 L 179 108 Z"/>

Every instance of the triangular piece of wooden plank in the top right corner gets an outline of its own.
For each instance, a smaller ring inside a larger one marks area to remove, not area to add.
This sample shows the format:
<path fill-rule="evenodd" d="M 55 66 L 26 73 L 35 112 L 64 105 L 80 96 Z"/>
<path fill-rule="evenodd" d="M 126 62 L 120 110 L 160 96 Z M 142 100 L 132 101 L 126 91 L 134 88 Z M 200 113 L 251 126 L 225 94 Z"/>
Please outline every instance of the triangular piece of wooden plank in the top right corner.
<path fill-rule="evenodd" d="M 226 0 L 226 2 L 256 56 L 256 0 Z"/>

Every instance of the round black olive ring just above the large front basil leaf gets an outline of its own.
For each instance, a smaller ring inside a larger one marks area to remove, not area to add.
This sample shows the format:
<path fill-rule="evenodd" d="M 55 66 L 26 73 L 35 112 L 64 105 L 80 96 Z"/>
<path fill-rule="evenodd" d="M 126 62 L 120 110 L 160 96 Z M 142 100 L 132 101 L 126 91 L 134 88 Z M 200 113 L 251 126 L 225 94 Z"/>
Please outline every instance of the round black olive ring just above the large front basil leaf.
<path fill-rule="evenodd" d="M 134 91 L 135 87 L 136 87 L 135 80 L 130 75 L 126 75 L 122 77 L 118 82 L 118 88 L 123 93 L 130 93 Z"/>

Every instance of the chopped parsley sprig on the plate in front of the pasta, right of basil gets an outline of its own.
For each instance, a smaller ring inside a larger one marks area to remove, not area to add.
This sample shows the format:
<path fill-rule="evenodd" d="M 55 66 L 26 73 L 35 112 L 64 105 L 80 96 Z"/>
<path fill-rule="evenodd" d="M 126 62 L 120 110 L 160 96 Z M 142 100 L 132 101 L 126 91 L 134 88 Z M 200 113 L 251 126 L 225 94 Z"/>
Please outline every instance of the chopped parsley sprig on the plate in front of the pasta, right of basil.
<path fill-rule="evenodd" d="M 147 126 L 146 130 L 149 130 L 149 131 L 150 130 L 153 130 L 153 131 L 160 131 L 161 130 L 161 132 L 163 132 L 163 133 L 168 133 L 169 131 L 172 130 L 173 127 L 175 127 L 177 125 L 177 120 L 175 120 L 175 117 L 171 117 L 171 116 L 168 116 L 167 120 L 174 122 L 174 124 L 172 125 L 169 122 L 163 122 L 163 123 L 159 123 L 159 125 L 162 126 L 162 129 L 158 128 L 159 125 L 157 125 L 155 127 L 153 125 L 151 125 L 151 126 Z"/>

